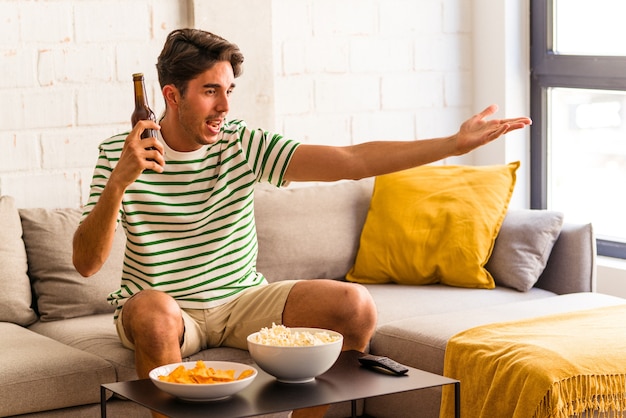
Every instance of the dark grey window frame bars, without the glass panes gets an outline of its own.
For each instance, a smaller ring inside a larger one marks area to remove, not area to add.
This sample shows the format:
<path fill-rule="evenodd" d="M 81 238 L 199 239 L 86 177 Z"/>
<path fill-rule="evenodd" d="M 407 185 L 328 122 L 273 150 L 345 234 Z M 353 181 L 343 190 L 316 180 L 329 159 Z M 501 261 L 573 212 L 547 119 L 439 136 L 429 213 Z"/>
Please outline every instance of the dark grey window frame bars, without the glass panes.
<path fill-rule="evenodd" d="M 530 2 L 530 206 L 548 202 L 548 89 L 626 91 L 626 56 L 559 55 L 554 52 L 554 0 Z M 626 239 L 626 237 L 624 237 Z M 599 255 L 626 259 L 626 241 L 596 239 Z"/>

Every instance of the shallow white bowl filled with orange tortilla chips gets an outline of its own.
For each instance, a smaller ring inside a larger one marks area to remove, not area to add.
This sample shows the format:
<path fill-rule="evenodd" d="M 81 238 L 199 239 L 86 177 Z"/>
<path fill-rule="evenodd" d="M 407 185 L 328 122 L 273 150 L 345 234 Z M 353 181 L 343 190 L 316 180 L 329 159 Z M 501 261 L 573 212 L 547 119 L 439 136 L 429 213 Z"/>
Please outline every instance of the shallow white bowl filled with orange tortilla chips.
<path fill-rule="evenodd" d="M 192 402 L 228 398 L 246 388 L 258 371 L 231 361 L 187 361 L 160 366 L 150 371 L 150 379 L 161 390 Z"/>

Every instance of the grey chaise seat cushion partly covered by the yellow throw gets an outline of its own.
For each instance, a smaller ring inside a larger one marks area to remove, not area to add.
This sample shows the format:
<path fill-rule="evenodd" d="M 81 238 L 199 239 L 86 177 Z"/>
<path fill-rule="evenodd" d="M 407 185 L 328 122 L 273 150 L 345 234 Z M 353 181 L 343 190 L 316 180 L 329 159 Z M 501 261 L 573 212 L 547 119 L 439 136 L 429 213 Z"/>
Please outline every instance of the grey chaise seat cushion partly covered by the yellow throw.
<path fill-rule="evenodd" d="M 446 304 L 448 303 L 454 302 L 446 299 Z M 430 315 L 402 319 L 379 327 L 372 339 L 370 351 L 389 356 L 418 369 L 443 374 L 443 360 L 448 340 L 466 329 L 494 322 L 622 303 L 625 303 L 624 299 L 614 296 L 572 293 L 442 314 L 434 311 Z M 410 418 L 415 416 L 414 411 L 403 407 L 396 408 L 394 405 L 419 405 L 420 417 L 438 418 L 440 400 L 441 388 L 430 388 L 367 399 L 366 411 L 373 416 Z"/>

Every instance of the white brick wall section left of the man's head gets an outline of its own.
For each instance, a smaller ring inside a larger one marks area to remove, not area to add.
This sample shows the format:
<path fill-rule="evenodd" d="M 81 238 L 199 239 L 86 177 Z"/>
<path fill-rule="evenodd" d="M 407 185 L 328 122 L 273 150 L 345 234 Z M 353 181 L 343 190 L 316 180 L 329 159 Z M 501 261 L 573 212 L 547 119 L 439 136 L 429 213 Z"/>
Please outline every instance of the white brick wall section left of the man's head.
<path fill-rule="evenodd" d="M 162 111 L 156 57 L 189 24 L 179 0 L 3 0 L 0 194 L 20 207 L 80 206 L 98 143 L 130 128 L 132 73 L 146 73 Z"/>

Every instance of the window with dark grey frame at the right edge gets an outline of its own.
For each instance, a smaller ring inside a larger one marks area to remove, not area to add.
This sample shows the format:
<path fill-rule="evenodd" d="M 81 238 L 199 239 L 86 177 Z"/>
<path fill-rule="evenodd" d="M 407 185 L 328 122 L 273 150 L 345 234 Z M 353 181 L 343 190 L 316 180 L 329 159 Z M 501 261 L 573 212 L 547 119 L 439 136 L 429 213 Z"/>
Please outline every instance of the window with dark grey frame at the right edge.
<path fill-rule="evenodd" d="M 624 0 L 531 0 L 531 206 L 626 258 Z"/>

